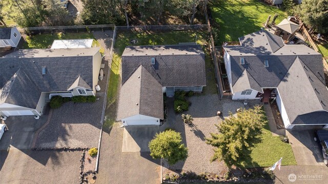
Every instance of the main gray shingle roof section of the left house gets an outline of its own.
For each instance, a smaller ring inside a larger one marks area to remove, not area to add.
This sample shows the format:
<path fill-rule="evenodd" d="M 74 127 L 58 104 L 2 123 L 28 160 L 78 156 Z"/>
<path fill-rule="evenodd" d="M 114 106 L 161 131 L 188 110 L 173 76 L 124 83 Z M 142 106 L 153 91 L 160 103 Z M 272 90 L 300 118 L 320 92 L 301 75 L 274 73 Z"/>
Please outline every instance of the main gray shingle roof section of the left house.
<path fill-rule="evenodd" d="M 6 86 L 18 69 L 24 69 L 27 82 L 30 80 L 29 83 L 34 84 L 17 87 L 17 91 L 24 91 L 26 96 L 34 95 L 34 91 L 37 90 L 40 92 L 67 91 L 78 76 L 82 77 L 89 87 L 93 86 L 92 57 L 98 50 L 99 48 L 15 51 L 0 57 L 0 88 Z M 43 67 L 46 67 L 45 75 L 42 74 Z M 80 81 L 80 84 L 84 82 Z M 39 98 L 31 99 L 35 105 Z M 23 103 L 18 100 L 13 101 L 14 105 Z"/>

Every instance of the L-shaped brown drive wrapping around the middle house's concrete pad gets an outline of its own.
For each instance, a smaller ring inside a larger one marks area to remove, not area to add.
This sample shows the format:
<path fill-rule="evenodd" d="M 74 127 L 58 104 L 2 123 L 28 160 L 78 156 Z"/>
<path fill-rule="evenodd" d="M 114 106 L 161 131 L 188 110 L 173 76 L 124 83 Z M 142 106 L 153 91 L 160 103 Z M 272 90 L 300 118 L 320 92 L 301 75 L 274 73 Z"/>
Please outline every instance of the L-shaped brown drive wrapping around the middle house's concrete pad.
<path fill-rule="evenodd" d="M 115 125 L 101 138 L 97 183 L 160 183 L 159 159 L 149 152 L 122 152 L 123 129 Z"/>

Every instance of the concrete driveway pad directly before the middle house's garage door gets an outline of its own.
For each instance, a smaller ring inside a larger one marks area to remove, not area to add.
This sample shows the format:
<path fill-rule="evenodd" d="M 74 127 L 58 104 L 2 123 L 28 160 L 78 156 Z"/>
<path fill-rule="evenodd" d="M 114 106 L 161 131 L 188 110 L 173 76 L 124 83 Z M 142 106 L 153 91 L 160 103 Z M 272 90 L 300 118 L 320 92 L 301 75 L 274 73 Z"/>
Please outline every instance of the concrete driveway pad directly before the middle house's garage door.
<path fill-rule="evenodd" d="M 149 152 L 148 142 L 159 126 L 127 126 L 123 131 L 122 152 Z"/>

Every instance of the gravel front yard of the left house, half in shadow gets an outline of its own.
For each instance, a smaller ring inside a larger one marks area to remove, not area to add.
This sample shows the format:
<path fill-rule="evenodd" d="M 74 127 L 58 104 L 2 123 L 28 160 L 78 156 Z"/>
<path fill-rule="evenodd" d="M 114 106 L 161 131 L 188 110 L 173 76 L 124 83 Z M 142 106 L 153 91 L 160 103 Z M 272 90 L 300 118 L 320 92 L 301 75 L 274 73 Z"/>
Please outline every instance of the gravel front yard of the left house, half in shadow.
<path fill-rule="evenodd" d="M 104 97 L 95 103 L 64 103 L 54 109 L 49 124 L 40 131 L 35 148 L 98 147 Z"/>

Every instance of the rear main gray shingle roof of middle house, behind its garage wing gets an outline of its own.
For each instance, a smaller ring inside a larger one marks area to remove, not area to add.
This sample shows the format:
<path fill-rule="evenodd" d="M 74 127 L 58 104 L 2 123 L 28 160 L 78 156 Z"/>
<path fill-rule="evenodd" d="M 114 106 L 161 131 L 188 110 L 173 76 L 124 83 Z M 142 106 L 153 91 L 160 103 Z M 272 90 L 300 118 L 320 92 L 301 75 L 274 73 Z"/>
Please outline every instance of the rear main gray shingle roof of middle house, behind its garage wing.
<path fill-rule="evenodd" d="M 206 86 L 204 57 L 200 45 L 126 47 L 122 54 L 122 84 L 142 65 L 164 87 Z"/>

